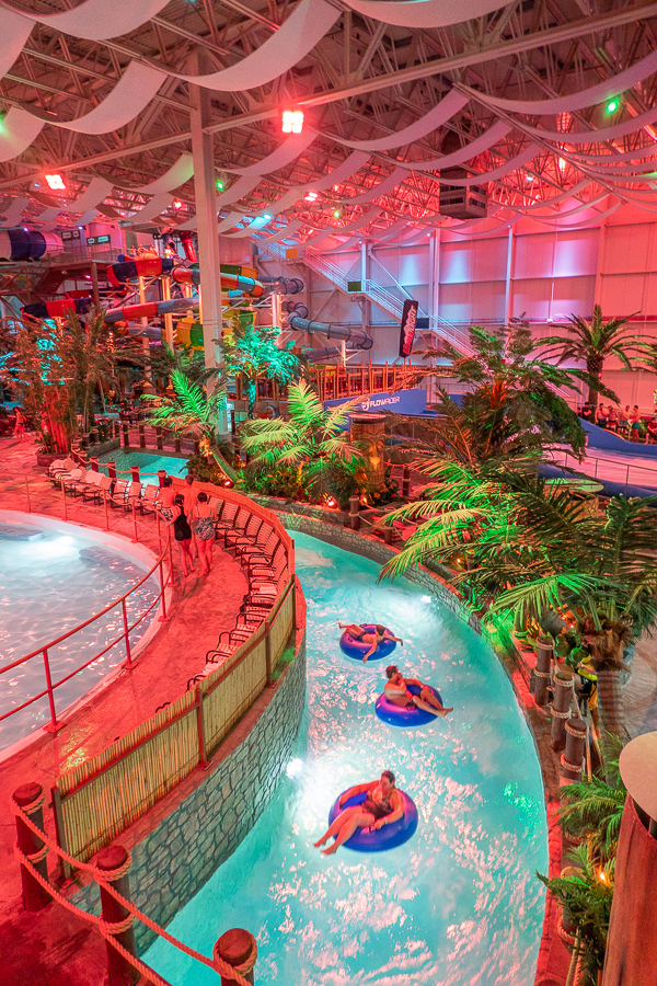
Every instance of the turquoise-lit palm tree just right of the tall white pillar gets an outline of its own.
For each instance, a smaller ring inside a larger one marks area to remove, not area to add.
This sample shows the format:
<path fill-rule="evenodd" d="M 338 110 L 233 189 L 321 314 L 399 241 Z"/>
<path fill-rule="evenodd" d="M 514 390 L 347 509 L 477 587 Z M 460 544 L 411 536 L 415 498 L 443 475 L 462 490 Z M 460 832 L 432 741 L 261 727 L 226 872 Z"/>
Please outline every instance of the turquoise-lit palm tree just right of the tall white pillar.
<path fill-rule="evenodd" d="M 232 333 L 223 339 L 223 359 L 229 375 L 241 374 L 246 383 L 249 417 L 255 417 L 255 390 L 257 378 L 263 376 L 278 383 L 287 385 L 298 380 L 301 363 L 290 352 L 292 344 L 283 348 L 276 345 L 279 332 L 274 328 L 258 328 L 249 321 L 246 324 L 233 317 Z"/>

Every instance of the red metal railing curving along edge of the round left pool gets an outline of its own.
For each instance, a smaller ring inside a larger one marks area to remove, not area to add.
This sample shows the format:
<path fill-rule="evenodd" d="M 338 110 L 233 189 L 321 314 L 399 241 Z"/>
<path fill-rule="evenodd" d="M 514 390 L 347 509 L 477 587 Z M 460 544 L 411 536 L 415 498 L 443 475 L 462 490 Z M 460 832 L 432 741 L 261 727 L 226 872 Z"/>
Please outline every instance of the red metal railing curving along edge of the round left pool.
<path fill-rule="evenodd" d="M 33 651 L 31 654 L 26 654 L 24 657 L 20 657 L 18 661 L 12 661 L 11 664 L 5 664 L 3 667 L 0 667 L 0 675 L 4 675 L 8 672 L 11 672 L 16 667 L 20 667 L 21 665 L 26 664 L 27 661 L 33 661 L 34 658 L 43 657 L 44 675 L 45 675 L 45 679 L 46 679 L 46 687 L 43 689 L 43 691 L 39 691 L 38 695 L 35 695 L 32 698 L 27 699 L 26 702 L 23 702 L 18 708 L 12 709 L 11 712 L 5 712 L 4 715 L 0 715 L 0 722 L 2 722 L 5 719 L 9 719 L 10 715 L 15 715 L 18 712 L 21 712 L 23 709 L 26 709 L 27 706 L 33 704 L 33 702 L 41 701 L 41 699 L 43 699 L 47 695 L 48 703 L 50 707 L 50 722 L 46 726 L 46 730 L 48 730 L 49 732 L 56 733 L 64 725 L 64 722 L 57 720 L 57 711 L 56 711 L 56 707 L 55 707 L 55 689 L 56 688 L 59 688 L 61 685 L 65 685 L 74 675 L 80 674 L 80 672 L 84 670 L 87 667 L 89 667 L 91 664 L 93 664 L 94 661 L 99 661 L 99 658 L 102 657 L 104 654 L 106 654 L 107 651 L 111 651 L 112 647 L 115 647 L 117 644 L 119 644 L 122 640 L 125 641 L 125 646 L 126 646 L 126 657 L 125 657 L 125 661 L 122 662 L 122 665 L 123 665 L 123 667 L 128 668 L 128 669 L 134 667 L 132 655 L 131 655 L 131 651 L 130 651 L 130 633 L 135 630 L 136 627 L 139 626 L 139 623 L 143 619 L 146 619 L 146 617 L 149 615 L 149 612 L 151 612 L 159 603 L 161 603 L 161 605 L 162 605 L 162 616 L 160 617 L 160 619 L 162 619 L 162 620 L 166 619 L 165 589 L 166 589 L 166 586 L 171 582 L 171 576 L 172 576 L 172 572 L 173 572 L 173 564 L 171 561 L 171 552 L 172 552 L 171 530 L 168 530 L 168 535 L 169 535 L 169 537 L 168 537 L 166 544 L 162 549 L 162 552 L 161 552 L 160 557 L 158 558 L 158 560 L 155 561 L 155 563 L 146 573 L 146 575 L 143 575 L 139 580 L 139 582 L 137 582 L 134 586 L 131 586 L 127 591 L 127 593 L 124 593 L 124 595 L 119 596 L 118 599 L 115 599 L 113 603 L 111 603 L 108 606 L 106 606 L 100 612 L 94 614 L 94 616 L 90 617 L 88 620 L 84 620 L 84 622 L 79 623 L 72 630 L 69 630 L 67 633 L 64 633 L 61 637 L 58 637 L 56 640 L 49 641 L 47 644 L 45 644 L 45 646 L 39 646 L 39 647 L 37 647 L 36 651 Z M 166 571 L 166 575 L 164 575 L 164 558 L 165 558 L 166 553 L 169 553 L 169 555 L 170 555 L 170 564 L 169 564 L 169 570 Z M 147 609 L 145 609 L 145 611 L 138 617 L 138 619 L 136 619 L 132 623 L 129 623 L 126 600 L 132 595 L 132 593 L 136 593 L 143 585 L 143 583 L 147 582 L 153 575 L 155 570 L 159 570 L 159 573 L 160 573 L 160 592 L 155 595 L 155 598 L 153 599 L 153 601 L 150 604 L 150 606 L 147 607 Z M 93 623 L 96 620 L 104 617 L 107 612 L 111 612 L 117 606 L 122 607 L 123 628 L 124 628 L 123 633 L 119 633 L 119 635 L 115 640 L 113 640 L 112 643 L 107 644 L 105 647 L 103 647 L 102 651 L 100 651 L 97 654 L 94 654 L 93 657 L 90 657 L 89 661 L 85 661 L 83 664 L 81 664 L 74 670 L 69 672 L 69 674 L 65 675 L 64 678 L 60 678 L 58 681 L 53 681 L 53 676 L 50 673 L 50 660 L 48 657 L 48 652 L 51 651 L 53 647 L 56 647 L 58 644 L 62 643 L 62 641 L 69 640 L 69 638 L 73 637 L 76 633 L 79 633 L 80 630 L 83 630 L 85 627 L 89 627 L 91 623 Z"/>

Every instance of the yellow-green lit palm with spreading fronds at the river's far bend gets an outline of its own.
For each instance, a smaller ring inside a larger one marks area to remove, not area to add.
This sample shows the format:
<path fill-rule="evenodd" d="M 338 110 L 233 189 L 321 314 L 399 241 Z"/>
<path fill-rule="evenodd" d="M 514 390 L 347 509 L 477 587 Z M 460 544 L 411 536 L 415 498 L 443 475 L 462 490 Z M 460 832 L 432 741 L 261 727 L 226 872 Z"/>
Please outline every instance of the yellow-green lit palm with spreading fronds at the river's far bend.
<path fill-rule="evenodd" d="M 347 431 L 359 400 L 327 412 L 306 380 L 290 385 L 287 420 L 249 421 L 240 428 L 242 448 L 253 457 L 251 468 L 293 467 L 307 494 L 321 500 L 331 472 L 349 473 L 362 465 Z"/>

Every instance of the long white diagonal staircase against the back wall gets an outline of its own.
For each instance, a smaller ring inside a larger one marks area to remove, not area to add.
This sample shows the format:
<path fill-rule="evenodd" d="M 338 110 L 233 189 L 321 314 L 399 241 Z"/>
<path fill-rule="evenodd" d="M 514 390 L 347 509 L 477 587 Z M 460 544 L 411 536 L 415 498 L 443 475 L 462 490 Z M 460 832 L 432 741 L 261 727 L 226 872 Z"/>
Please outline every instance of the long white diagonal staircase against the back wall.
<path fill-rule="evenodd" d="M 281 261 L 283 263 L 295 263 L 296 261 L 287 260 L 287 248 L 281 243 L 270 243 L 266 244 L 265 241 L 258 241 L 258 246 L 269 253 L 272 256 L 275 256 L 276 260 Z M 349 295 L 350 298 L 367 298 L 372 305 L 376 305 L 377 308 L 380 308 L 387 314 L 390 314 L 397 322 L 402 321 L 402 311 L 404 309 L 404 305 L 399 298 L 395 298 L 390 291 L 387 291 L 385 288 L 382 288 L 376 280 L 371 280 L 368 278 L 367 280 L 349 280 L 344 271 L 341 271 L 339 267 L 336 267 L 335 264 L 332 264 L 331 261 L 326 260 L 321 253 L 312 250 L 310 246 L 299 248 L 299 262 L 306 264 L 307 267 L 310 267 L 311 271 L 315 271 L 318 274 L 321 274 L 322 277 L 325 277 L 335 287 L 344 291 L 345 295 Z M 356 287 L 357 288 L 350 289 Z M 411 296 L 407 295 L 410 298 Z M 418 310 L 420 317 L 427 318 L 426 312 Z M 470 340 L 468 333 L 463 329 L 458 329 L 456 325 L 450 324 L 450 322 L 446 322 L 445 319 L 441 319 L 439 316 L 429 316 L 428 317 L 428 328 L 420 330 L 422 332 L 429 333 L 429 340 L 434 337 L 434 341 L 445 340 L 450 345 L 454 347 L 459 353 L 462 353 L 465 356 L 472 355 L 472 347 L 470 345 Z"/>

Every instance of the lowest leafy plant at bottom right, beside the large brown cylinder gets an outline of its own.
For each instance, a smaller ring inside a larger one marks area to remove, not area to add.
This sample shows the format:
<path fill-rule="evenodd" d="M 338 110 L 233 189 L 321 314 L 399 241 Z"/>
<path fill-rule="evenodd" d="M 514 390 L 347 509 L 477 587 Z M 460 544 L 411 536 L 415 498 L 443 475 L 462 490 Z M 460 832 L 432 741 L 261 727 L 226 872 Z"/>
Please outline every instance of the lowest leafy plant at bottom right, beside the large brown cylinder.
<path fill-rule="evenodd" d="M 570 859 L 575 872 L 552 880 L 541 873 L 537 876 L 561 901 L 564 916 L 575 926 L 574 949 L 586 976 L 579 982 L 596 986 L 604 965 L 613 884 L 610 873 L 589 859 L 586 846 L 574 849 Z"/>

